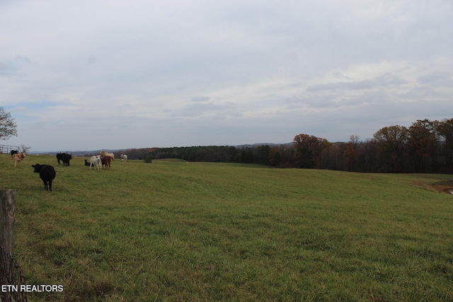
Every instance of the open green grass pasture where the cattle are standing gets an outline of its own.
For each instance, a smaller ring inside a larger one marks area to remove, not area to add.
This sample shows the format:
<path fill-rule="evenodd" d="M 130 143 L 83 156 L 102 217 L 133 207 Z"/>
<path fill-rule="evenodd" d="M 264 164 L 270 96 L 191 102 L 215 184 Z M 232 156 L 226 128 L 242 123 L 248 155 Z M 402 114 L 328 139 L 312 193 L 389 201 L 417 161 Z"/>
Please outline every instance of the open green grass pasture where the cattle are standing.
<path fill-rule="evenodd" d="M 57 170 L 45 192 L 30 165 Z M 29 301 L 452 301 L 453 175 L 0 155 Z"/>

